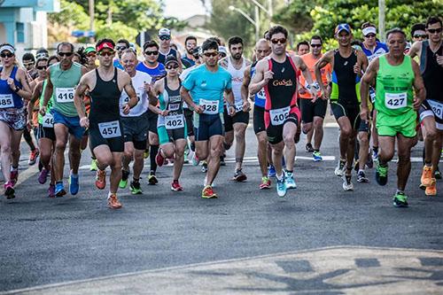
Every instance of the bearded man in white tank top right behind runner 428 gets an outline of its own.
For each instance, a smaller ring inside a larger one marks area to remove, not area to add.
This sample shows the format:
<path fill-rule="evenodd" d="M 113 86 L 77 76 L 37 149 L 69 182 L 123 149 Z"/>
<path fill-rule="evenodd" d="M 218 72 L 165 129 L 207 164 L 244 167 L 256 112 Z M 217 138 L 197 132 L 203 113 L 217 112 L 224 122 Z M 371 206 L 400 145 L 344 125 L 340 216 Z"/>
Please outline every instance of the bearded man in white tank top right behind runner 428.
<path fill-rule="evenodd" d="M 225 148 L 229 149 L 236 138 L 236 167 L 233 180 L 244 182 L 247 176 L 242 171 L 243 158 L 245 157 L 245 136 L 249 123 L 249 110 L 251 108 L 248 96 L 242 96 L 242 84 L 246 66 L 251 62 L 243 57 L 243 40 L 238 36 L 230 37 L 228 41 L 229 57 L 220 61 L 220 66 L 225 68 L 232 76 L 232 93 L 234 94 L 236 114 L 229 116 L 228 108 L 224 109 Z"/>

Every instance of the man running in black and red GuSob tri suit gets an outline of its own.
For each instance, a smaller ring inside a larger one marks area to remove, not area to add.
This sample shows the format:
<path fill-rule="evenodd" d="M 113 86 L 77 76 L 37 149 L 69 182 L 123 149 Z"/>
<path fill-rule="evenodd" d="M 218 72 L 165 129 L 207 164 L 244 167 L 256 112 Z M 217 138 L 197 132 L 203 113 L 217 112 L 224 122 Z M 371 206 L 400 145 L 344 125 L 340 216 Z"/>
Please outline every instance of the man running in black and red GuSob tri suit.
<path fill-rule="evenodd" d="M 314 89 L 311 74 L 303 60 L 299 56 L 287 54 L 286 28 L 271 27 L 269 38 L 272 53 L 269 58 L 261 59 L 255 66 L 255 75 L 249 85 L 249 91 L 251 94 L 256 94 L 260 89 L 265 89 L 265 127 L 269 144 L 272 145 L 272 160 L 276 167 L 276 190 L 279 197 L 284 197 L 286 190 L 297 187 L 293 179 L 293 167 L 294 137 L 300 119 L 297 106 L 299 71 L 305 75 L 313 97 L 316 96 L 318 89 Z M 283 155 L 286 159 L 286 171 L 283 171 L 282 167 Z"/>

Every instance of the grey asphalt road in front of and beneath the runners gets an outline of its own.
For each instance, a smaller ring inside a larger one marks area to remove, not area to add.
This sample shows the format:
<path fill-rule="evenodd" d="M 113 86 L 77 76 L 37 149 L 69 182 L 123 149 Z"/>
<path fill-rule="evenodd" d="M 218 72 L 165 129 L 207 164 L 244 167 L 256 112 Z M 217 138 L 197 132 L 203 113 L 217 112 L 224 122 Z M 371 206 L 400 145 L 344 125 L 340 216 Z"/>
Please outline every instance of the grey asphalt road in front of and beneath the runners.
<path fill-rule="evenodd" d="M 46 198 L 23 145 L 17 198 L 0 199 L 0 292 L 442 293 L 443 198 L 418 189 L 423 145 L 413 151 L 409 207 L 400 209 L 391 201 L 394 162 L 385 187 L 369 169 L 369 183 L 354 176 L 354 191 L 342 189 L 337 137 L 338 128 L 325 128 L 323 162 L 310 159 L 302 137 L 298 188 L 285 198 L 275 183 L 258 190 L 248 128 L 246 182 L 230 180 L 233 151 L 215 181 L 218 199 L 199 198 L 200 167 L 184 167 L 183 192 L 170 190 L 172 167 L 159 168 L 155 186 L 145 169 L 144 195 L 120 191 L 118 211 L 95 188 L 87 153 L 79 194 Z"/>

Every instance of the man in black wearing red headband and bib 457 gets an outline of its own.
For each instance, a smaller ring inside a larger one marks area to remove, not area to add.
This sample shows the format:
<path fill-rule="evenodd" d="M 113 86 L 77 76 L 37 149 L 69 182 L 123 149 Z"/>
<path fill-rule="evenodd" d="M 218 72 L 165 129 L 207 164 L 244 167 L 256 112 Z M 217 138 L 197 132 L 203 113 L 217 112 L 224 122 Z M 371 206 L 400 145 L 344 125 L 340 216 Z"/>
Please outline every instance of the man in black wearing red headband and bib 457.
<path fill-rule="evenodd" d="M 128 114 L 138 100 L 129 75 L 113 66 L 115 43 L 111 39 L 97 42 L 96 50 L 100 66 L 82 77 L 75 89 L 74 103 L 83 128 L 89 128 L 90 145 L 97 157 L 97 189 L 106 186 L 106 167 L 111 167 L 108 206 L 119 209 L 117 190 L 121 179 L 121 157 L 124 151 L 123 127 L 120 122 L 120 110 Z M 83 105 L 85 91 L 89 89 L 91 97 L 89 118 Z M 121 91 L 128 94 L 128 103 L 120 107 Z"/>

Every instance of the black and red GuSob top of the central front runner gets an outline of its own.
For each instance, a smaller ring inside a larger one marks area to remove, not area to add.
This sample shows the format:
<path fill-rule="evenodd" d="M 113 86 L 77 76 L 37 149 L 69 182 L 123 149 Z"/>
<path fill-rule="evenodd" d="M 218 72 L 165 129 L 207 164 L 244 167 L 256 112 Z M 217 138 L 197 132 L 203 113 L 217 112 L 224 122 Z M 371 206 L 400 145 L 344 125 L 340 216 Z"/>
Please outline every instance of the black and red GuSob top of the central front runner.
<path fill-rule="evenodd" d="M 268 63 L 269 71 L 272 71 L 274 75 L 266 86 L 269 99 L 267 99 L 265 109 L 268 111 L 286 106 L 296 106 L 298 73 L 291 58 L 286 56 L 283 63 L 278 63 L 273 58 L 269 58 Z"/>

